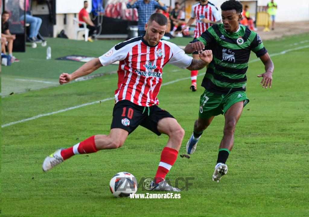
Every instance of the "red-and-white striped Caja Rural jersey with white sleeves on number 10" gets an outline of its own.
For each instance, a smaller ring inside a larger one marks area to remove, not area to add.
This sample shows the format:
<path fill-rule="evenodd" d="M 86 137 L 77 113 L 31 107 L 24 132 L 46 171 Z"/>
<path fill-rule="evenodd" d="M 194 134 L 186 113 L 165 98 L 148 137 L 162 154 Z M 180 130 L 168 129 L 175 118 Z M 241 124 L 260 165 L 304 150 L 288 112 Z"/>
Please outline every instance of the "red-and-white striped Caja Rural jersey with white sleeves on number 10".
<path fill-rule="evenodd" d="M 176 44 L 160 41 L 150 46 L 143 36 L 117 44 L 99 57 L 103 66 L 120 61 L 116 103 L 129 100 L 140 106 L 159 105 L 162 69 L 167 63 L 185 69 L 192 59 Z"/>

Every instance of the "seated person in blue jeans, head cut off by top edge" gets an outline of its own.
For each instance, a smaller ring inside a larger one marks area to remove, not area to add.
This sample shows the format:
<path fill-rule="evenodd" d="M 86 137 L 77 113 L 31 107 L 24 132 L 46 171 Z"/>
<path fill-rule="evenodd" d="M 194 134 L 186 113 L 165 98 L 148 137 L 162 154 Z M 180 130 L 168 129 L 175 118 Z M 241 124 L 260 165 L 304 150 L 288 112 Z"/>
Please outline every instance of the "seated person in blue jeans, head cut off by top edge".
<path fill-rule="evenodd" d="M 26 23 L 30 24 L 30 32 L 29 32 L 29 40 L 30 42 L 42 42 L 42 40 L 37 38 L 39 34 L 39 30 L 42 24 L 42 19 L 39 17 L 31 16 L 31 11 L 29 7 L 29 0 L 20 0 L 19 7 L 20 7 L 20 14 L 23 14 L 24 8 L 24 1 L 26 1 Z M 25 15 L 20 17 L 20 20 L 23 21 L 25 19 Z"/>

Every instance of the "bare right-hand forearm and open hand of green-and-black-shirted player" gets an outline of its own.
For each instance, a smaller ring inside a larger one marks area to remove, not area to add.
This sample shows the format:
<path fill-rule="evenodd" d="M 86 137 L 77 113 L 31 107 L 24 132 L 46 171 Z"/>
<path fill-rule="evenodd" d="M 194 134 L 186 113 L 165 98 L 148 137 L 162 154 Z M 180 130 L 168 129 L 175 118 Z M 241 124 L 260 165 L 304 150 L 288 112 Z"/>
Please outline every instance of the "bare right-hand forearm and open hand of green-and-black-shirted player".
<path fill-rule="evenodd" d="M 271 84 L 273 82 L 273 70 L 274 65 L 273 61 L 270 59 L 270 56 L 268 53 L 265 53 L 263 56 L 260 56 L 261 61 L 265 65 L 265 73 L 258 75 L 257 77 L 263 77 L 261 81 L 261 85 L 263 85 L 263 88 L 271 88 Z"/>

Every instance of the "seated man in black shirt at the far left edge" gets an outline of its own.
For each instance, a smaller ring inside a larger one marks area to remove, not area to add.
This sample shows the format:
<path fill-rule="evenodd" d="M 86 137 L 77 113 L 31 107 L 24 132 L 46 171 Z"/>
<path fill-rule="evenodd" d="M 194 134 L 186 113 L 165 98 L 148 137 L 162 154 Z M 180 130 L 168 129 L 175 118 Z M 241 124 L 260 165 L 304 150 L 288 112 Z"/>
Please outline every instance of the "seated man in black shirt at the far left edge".
<path fill-rule="evenodd" d="M 15 35 L 12 35 L 9 30 L 9 20 L 10 14 L 6 10 L 3 11 L 1 16 L 1 52 L 4 50 L 5 52 L 5 45 L 7 43 L 7 50 L 9 52 L 9 56 L 11 56 L 11 63 L 13 62 L 19 62 L 19 59 L 17 59 L 15 56 L 13 56 L 13 41 L 16 39 Z M 4 48 L 4 49 L 3 49 Z"/>

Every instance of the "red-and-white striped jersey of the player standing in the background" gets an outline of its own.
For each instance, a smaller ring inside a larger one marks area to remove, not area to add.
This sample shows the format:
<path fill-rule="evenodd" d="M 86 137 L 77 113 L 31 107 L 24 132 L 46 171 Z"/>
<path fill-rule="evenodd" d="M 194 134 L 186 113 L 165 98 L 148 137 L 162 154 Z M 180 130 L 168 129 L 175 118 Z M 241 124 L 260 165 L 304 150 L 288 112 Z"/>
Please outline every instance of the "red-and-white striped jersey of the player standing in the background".
<path fill-rule="evenodd" d="M 191 17 L 196 18 L 194 38 L 200 37 L 201 34 L 212 25 L 210 23 L 203 23 L 201 19 L 206 18 L 210 21 L 221 20 L 221 14 L 219 13 L 218 8 L 210 2 L 208 2 L 206 5 L 201 5 L 201 3 L 193 5 L 191 10 Z"/>

